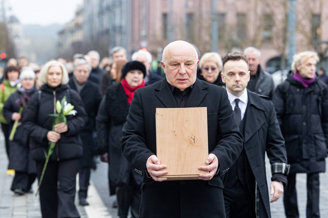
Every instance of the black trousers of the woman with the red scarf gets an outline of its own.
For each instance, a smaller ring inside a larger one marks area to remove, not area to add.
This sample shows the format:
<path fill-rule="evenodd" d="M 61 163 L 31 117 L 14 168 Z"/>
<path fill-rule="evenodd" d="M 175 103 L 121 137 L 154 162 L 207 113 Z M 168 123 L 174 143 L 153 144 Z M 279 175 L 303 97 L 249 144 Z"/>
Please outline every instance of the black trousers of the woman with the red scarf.
<path fill-rule="evenodd" d="M 128 217 L 131 206 L 132 218 L 139 217 L 141 203 L 141 189 L 136 185 L 123 185 L 116 188 L 116 197 L 118 204 L 118 216 L 120 218 Z"/>

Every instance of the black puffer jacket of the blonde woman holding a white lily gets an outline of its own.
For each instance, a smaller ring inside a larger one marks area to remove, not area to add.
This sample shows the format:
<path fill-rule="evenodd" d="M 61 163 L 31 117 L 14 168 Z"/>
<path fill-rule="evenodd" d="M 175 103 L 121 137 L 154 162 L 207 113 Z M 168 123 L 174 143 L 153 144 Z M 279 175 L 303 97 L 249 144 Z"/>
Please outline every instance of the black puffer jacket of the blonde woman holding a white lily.
<path fill-rule="evenodd" d="M 33 159 L 44 161 L 44 151 L 48 152 L 47 133 L 52 129 L 53 118 L 49 114 L 54 113 L 54 104 L 69 93 L 70 101 L 77 111 L 75 116 L 68 115 L 68 131 L 61 133 L 50 160 L 73 159 L 82 156 L 82 142 L 79 133 L 82 131 L 88 116 L 83 108 L 82 100 L 77 92 L 69 89 L 68 85 L 59 85 L 51 89 L 48 85 L 41 87 L 41 99 L 39 93 L 35 93 L 23 111 L 23 127 L 30 136 L 31 151 Z"/>

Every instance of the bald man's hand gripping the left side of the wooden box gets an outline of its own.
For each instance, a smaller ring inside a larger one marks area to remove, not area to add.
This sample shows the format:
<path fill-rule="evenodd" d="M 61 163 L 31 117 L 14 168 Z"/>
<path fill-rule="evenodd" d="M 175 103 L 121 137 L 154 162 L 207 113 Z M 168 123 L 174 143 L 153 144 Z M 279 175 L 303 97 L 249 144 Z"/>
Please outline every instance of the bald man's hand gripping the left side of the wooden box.
<path fill-rule="evenodd" d="M 165 169 L 166 165 L 164 164 L 160 164 L 158 158 L 156 157 L 156 155 L 152 155 L 147 159 L 147 163 L 146 163 L 146 168 L 147 171 L 149 173 L 150 176 L 152 176 L 152 178 L 157 181 L 157 182 L 161 182 L 166 180 L 167 178 L 160 178 L 159 176 L 164 176 L 167 174 L 167 171 L 159 171 L 161 169 Z"/>

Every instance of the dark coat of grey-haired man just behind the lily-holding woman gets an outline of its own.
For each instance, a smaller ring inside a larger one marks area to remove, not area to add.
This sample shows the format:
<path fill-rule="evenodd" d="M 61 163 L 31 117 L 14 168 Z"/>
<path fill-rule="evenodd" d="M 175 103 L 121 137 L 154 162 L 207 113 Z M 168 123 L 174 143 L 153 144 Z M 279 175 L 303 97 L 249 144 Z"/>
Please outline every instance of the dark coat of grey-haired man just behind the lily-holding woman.
<path fill-rule="evenodd" d="M 73 79 L 71 79 L 68 84 L 71 89 L 77 91 Z M 93 163 L 92 156 L 93 156 L 93 147 L 94 147 L 92 132 L 96 130 L 95 120 L 101 102 L 101 95 L 99 92 L 99 87 L 88 80 L 86 81 L 79 95 L 82 99 L 84 110 L 88 116 L 87 124 L 85 125 L 85 127 L 83 128 L 80 134 L 82 145 L 83 145 L 81 166 L 92 167 L 92 163 Z"/>

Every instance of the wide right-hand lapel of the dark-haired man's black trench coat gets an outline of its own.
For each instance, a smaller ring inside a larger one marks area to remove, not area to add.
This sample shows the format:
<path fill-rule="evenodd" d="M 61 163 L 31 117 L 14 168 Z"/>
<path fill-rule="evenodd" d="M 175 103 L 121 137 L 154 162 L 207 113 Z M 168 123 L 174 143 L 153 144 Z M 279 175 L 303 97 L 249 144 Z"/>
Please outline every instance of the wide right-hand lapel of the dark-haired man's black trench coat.
<path fill-rule="evenodd" d="M 266 118 L 262 111 L 265 108 L 260 97 L 253 92 L 248 92 L 248 105 L 246 111 L 246 125 L 244 134 L 244 144 L 256 133 L 256 131 L 265 123 Z M 262 111 L 261 111 L 262 110 Z"/>

